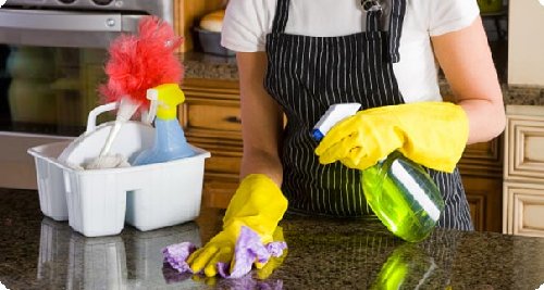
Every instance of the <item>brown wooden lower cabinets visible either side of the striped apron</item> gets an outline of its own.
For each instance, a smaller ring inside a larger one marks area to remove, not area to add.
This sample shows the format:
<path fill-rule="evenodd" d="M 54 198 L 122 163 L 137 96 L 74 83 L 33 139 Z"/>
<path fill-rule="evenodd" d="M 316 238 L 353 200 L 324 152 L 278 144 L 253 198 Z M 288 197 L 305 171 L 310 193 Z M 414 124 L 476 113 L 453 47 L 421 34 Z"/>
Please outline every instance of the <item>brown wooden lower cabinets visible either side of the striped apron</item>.
<path fill-rule="evenodd" d="M 211 152 L 206 161 L 205 206 L 226 207 L 238 185 L 242 157 L 239 90 L 236 80 L 187 78 L 180 109 L 190 143 Z M 477 230 L 500 231 L 502 138 L 469 146 L 459 164 Z"/>

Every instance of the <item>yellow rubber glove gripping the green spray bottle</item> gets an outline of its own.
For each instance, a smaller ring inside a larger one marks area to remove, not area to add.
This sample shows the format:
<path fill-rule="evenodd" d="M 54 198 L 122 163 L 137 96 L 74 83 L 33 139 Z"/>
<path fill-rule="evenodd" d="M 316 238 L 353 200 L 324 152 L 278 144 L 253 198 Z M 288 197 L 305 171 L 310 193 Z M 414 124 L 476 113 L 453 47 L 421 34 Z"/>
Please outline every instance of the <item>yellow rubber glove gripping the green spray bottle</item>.
<path fill-rule="evenodd" d="M 469 123 L 460 105 L 419 102 L 359 111 L 336 124 L 316 154 L 320 163 L 366 169 L 395 150 L 429 168 L 452 173 L 467 144 Z"/>

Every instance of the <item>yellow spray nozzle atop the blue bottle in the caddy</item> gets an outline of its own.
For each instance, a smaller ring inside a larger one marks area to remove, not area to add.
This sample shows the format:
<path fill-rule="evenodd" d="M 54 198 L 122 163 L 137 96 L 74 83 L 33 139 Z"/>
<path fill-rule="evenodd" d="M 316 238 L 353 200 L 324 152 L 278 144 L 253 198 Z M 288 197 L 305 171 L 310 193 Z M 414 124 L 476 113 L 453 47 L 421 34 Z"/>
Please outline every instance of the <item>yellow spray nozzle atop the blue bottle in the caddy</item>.
<path fill-rule="evenodd" d="M 177 105 L 185 101 L 185 94 L 177 84 L 163 84 L 148 89 L 147 98 L 157 100 L 157 117 L 173 119 L 177 117 Z"/>

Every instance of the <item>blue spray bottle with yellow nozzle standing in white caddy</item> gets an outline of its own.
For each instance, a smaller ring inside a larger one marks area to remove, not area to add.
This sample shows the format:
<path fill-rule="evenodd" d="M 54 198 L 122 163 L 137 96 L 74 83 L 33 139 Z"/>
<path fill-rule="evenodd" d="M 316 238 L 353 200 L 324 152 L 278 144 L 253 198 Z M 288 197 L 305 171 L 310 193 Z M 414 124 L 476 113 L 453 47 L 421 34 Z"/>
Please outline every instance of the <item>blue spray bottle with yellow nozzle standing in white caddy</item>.
<path fill-rule="evenodd" d="M 157 102 L 154 144 L 140 152 L 133 165 L 160 163 L 195 155 L 196 152 L 187 143 L 176 117 L 177 105 L 185 101 L 185 94 L 180 86 L 164 84 L 149 89 L 148 99 L 151 100 L 151 103 Z"/>

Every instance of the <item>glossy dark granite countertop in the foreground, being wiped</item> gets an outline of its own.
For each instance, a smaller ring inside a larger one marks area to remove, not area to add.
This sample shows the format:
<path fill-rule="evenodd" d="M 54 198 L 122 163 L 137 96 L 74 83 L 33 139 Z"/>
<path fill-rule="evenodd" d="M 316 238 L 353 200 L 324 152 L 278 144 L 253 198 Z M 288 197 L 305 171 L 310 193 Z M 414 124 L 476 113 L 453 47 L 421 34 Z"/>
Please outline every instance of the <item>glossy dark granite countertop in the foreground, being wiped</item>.
<path fill-rule="evenodd" d="M 45 217 L 34 190 L 0 188 L 0 281 L 9 289 L 536 289 L 544 283 L 544 239 L 436 229 L 420 243 L 394 238 L 373 218 L 281 222 L 288 252 L 268 279 L 181 275 L 161 249 L 198 245 L 221 226 L 220 210 L 151 231 L 86 238 Z M 450 288 L 448 288 L 450 287 Z"/>

